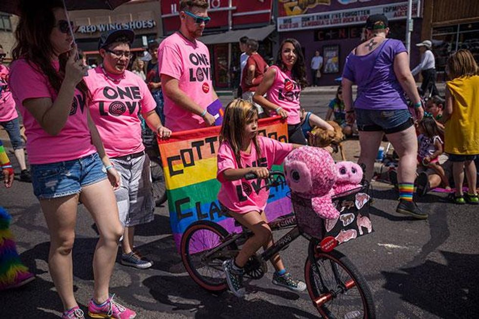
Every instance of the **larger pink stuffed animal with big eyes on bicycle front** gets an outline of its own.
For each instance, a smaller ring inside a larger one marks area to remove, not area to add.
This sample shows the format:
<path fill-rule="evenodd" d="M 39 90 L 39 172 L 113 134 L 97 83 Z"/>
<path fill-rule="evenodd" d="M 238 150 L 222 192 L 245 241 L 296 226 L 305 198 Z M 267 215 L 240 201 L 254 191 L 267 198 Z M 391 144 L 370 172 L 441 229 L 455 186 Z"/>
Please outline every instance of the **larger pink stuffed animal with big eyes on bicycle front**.
<path fill-rule="evenodd" d="M 309 146 L 295 149 L 286 156 L 283 165 L 291 191 L 311 199 L 313 210 L 320 217 L 338 218 L 339 212 L 331 202 L 331 188 L 338 172 L 325 149 Z"/>

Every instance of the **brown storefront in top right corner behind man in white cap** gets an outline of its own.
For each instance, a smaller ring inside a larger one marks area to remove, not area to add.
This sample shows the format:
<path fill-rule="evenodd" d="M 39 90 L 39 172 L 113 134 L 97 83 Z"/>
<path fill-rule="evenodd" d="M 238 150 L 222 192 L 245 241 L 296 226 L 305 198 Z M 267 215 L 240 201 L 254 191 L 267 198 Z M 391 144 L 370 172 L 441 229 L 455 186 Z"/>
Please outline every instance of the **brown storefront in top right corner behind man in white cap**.
<path fill-rule="evenodd" d="M 470 0 L 425 0 L 423 39 L 431 39 L 437 78 L 446 80 L 449 55 L 468 49 L 479 62 L 479 5 Z"/>

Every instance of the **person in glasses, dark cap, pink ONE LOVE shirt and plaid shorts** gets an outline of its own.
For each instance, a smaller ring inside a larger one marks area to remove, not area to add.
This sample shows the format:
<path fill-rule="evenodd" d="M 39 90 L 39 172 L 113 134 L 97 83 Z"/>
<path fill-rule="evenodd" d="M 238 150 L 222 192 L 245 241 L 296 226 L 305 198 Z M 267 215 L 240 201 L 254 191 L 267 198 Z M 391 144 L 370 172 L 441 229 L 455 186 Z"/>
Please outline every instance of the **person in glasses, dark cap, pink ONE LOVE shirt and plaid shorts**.
<path fill-rule="evenodd" d="M 115 191 L 120 221 L 125 226 L 120 261 L 146 269 L 152 262 L 133 246 L 134 226 L 154 218 L 150 160 L 141 139 L 139 113 L 159 137 L 168 137 L 171 131 L 161 124 L 147 84 L 127 70 L 134 37 L 129 29 L 102 34 L 98 51 L 103 63 L 88 71 L 85 82 L 91 93 L 88 105 L 91 118 L 105 151 L 121 175 L 121 186 Z"/>

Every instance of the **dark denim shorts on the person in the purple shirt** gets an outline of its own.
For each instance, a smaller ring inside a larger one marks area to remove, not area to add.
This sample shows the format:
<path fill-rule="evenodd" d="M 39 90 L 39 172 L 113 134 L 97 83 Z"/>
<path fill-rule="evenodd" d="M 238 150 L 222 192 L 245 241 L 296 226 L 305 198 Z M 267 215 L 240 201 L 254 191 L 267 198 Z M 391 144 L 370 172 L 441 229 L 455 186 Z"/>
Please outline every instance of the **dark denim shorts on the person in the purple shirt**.
<path fill-rule="evenodd" d="M 386 134 L 397 133 L 414 125 L 413 116 L 408 109 L 370 110 L 355 109 L 359 131 L 383 131 Z"/>

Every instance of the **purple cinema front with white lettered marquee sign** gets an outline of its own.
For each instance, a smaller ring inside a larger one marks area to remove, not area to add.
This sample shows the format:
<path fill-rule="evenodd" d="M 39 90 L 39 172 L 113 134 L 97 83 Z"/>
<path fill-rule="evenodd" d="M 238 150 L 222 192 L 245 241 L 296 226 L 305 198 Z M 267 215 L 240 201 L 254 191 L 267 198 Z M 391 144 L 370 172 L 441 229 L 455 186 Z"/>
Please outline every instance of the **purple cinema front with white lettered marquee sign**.
<path fill-rule="evenodd" d="M 324 64 L 320 85 L 334 85 L 343 73 L 349 52 L 361 43 L 363 25 L 371 14 L 385 14 L 390 38 L 405 41 L 407 1 L 401 0 L 309 0 L 279 1 L 280 41 L 297 39 L 303 47 L 306 67 L 318 50 Z M 421 2 L 413 0 L 414 31 L 411 36 L 411 67 L 419 62 L 414 43 L 421 38 Z M 311 72 L 306 72 L 310 77 Z M 309 78 L 311 82 L 311 78 Z"/>

